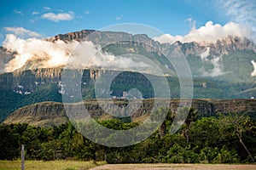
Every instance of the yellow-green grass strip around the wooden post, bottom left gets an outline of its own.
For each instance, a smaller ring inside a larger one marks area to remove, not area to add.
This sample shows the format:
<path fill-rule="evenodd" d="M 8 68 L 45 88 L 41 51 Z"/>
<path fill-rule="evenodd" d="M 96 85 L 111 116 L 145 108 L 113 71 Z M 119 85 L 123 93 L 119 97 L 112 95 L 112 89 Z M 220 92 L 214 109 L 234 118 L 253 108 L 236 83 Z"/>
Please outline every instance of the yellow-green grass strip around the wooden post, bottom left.
<path fill-rule="evenodd" d="M 20 170 L 21 161 L 1 161 L 0 170 Z M 105 161 L 25 161 L 26 170 L 87 170 L 106 164 Z"/>

